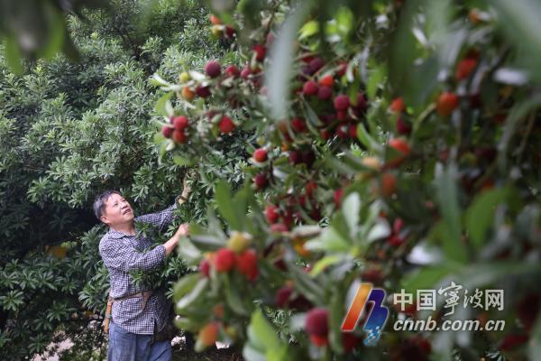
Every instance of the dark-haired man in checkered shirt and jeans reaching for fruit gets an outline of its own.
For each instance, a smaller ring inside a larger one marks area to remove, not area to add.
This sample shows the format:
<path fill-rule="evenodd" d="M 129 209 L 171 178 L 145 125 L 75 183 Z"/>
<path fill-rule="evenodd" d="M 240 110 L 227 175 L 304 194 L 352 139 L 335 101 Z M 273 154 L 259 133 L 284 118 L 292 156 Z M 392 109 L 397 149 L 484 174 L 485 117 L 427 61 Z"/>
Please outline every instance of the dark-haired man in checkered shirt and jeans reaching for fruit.
<path fill-rule="evenodd" d="M 109 227 L 99 243 L 99 253 L 109 271 L 109 296 L 113 300 L 108 361 L 171 359 L 170 339 L 164 337 L 170 319 L 170 303 L 162 292 L 136 285 L 130 273 L 149 271 L 163 264 L 179 238 L 188 234 L 188 224 L 181 225 L 163 245 L 150 249 L 151 240 L 136 236 L 133 221 L 151 223 L 162 230 L 171 223 L 173 210 L 178 202 L 186 201 L 189 191 L 185 181 L 184 190 L 174 205 L 138 218 L 133 217 L 130 203 L 119 192 L 109 190 L 96 197 L 96 218 Z"/>

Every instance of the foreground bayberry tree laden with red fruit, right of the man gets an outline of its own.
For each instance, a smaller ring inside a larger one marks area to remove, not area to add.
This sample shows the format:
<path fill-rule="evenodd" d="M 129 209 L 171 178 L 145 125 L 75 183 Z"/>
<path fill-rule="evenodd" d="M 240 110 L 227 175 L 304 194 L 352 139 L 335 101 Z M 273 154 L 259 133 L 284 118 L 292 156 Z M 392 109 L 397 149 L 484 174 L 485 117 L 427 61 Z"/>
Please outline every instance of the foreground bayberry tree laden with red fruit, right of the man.
<path fill-rule="evenodd" d="M 199 264 L 175 288 L 196 347 L 234 343 L 249 360 L 535 358 L 541 7 L 209 4 L 241 61 L 152 79 L 164 91 L 156 142 L 175 162 L 197 168 L 234 136 L 250 154 L 244 185 L 220 182 L 217 215 L 179 246 Z M 504 310 L 454 317 L 506 329 L 388 326 L 371 347 L 362 329 L 341 331 L 360 282 L 389 293 L 390 325 L 445 319 L 441 304 L 394 309 L 392 294 L 451 281 L 503 289 Z"/>

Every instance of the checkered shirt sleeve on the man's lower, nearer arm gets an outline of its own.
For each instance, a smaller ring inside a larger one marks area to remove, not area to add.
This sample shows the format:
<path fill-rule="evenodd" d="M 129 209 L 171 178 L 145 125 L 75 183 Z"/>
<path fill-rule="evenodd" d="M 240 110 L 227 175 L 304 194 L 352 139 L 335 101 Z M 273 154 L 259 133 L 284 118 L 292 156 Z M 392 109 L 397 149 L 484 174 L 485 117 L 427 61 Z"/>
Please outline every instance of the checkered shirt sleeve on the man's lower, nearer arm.
<path fill-rule="evenodd" d="M 107 267 L 128 273 L 135 270 L 148 271 L 165 260 L 165 246 L 157 245 L 147 252 L 140 252 L 124 239 L 101 243 L 99 253 Z"/>

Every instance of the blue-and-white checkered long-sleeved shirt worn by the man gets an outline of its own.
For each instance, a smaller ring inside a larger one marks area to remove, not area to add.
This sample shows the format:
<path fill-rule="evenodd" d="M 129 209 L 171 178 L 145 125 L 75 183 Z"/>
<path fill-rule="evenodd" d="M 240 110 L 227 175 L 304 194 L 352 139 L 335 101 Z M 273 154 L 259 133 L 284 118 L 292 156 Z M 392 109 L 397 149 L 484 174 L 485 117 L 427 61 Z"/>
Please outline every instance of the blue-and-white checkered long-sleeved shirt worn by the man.
<path fill-rule="evenodd" d="M 172 222 L 175 208 L 177 202 L 161 212 L 133 220 L 151 223 L 162 230 Z M 150 286 L 136 286 L 130 276 L 130 271 L 151 270 L 165 261 L 165 246 L 157 245 L 147 250 L 151 244 L 148 238 L 130 236 L 113 228 L 109 228 L 109 232 L 102 237 L 99 242 L 99 254 L 109 271 L 111 297 L 121 298 L 133 293 L 151 291 Z M 142 297 L 115 301 L 112 311 L 113 321 L 121 328 L 139 335 L 153 334 L 154 323 L 159 331 L 165 327 L 170 317 L 170 303 L 162 292 L 153 292 L 144 310 L 141 310 L 141 307 Z"/>

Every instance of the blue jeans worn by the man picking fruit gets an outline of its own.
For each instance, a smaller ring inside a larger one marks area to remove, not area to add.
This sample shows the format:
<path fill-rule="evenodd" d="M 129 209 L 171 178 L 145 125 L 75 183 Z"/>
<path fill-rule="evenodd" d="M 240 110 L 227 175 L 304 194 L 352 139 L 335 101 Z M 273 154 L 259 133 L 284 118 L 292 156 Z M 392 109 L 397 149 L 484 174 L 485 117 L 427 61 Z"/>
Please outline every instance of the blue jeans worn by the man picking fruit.
<path fill-rule="evenodd" d="M 170 341 L 152 342 L 152 338 L 126 331 L 111 322 L 107 361 L 170 361 Z"/>

